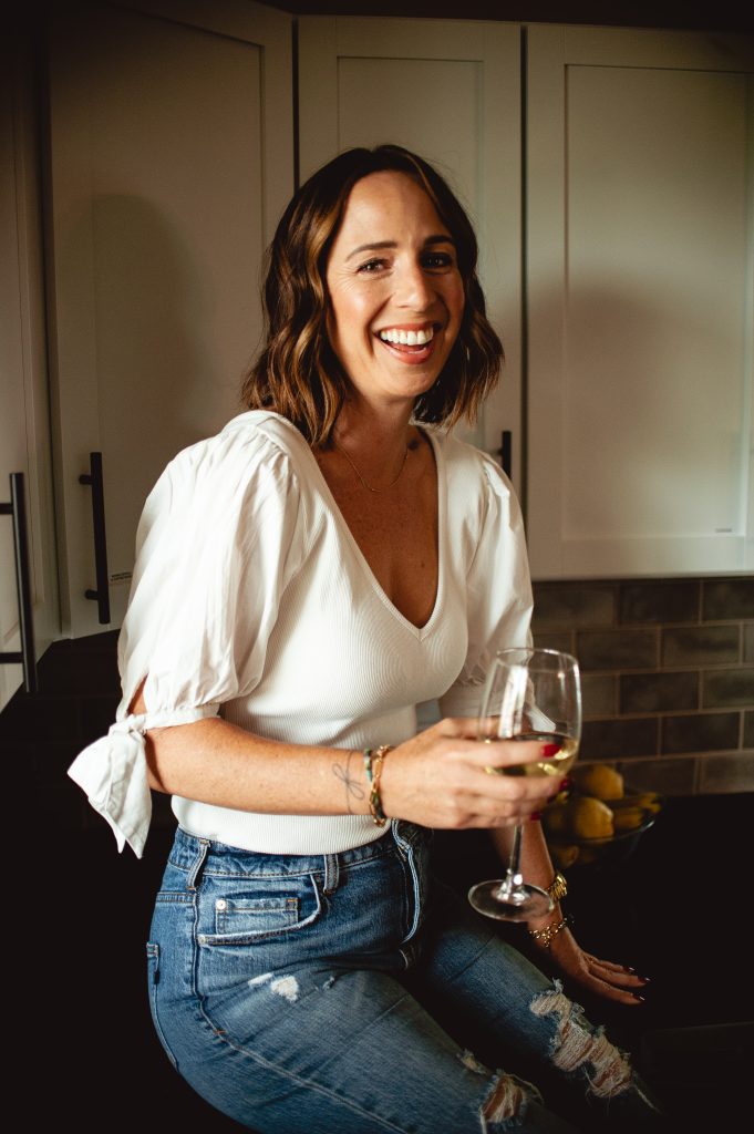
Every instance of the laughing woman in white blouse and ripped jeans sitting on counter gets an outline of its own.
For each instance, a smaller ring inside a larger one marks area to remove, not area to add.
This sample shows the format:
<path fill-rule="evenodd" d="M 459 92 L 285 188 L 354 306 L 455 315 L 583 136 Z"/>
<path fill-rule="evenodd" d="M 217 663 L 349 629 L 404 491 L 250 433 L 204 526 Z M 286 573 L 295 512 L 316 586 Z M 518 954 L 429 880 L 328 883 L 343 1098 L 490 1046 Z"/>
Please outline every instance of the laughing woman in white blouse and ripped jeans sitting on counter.
<path fill-rule="evenodd" d="M 118 723 L 71 769 L 137 854 L 149 788 L 173 796 L 154 1022 L 261 1132 L 574 1129 L 473 1048 L 539 1060 L 610 1127 L 654 1114 L 581 1010 L 427 874 L 431 828 L 505 850 L 531 819 L 526 872 L 553 883 L 534 815 L 558 785 L 485 775 L 474 741 L 488 660 L 528 633 L 518 507 L 493 462 L 421 425 L 473 417 L 497 380 L 475 265 L 463 209 L 399 147 L 341 154 L 296 194 L 251 412 L 150 496 Z M 497 747 L 500 765 L 541 753 Z M 636 1002 L 641 979 L 582 953 L 559 906 L 531 929 L 568 976 Z"/>

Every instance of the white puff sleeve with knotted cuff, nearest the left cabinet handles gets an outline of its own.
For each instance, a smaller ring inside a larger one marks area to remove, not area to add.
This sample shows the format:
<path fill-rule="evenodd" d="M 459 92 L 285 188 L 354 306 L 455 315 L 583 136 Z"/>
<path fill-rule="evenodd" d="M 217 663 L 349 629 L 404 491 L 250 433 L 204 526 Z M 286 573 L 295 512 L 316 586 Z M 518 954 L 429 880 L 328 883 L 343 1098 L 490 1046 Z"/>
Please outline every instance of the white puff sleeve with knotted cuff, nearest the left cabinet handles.
<path fill-rule="evenodd" d="M 212 717 L 262 676 L 280 596 L 305 556 L 290 458 L 226 428 L 168 465 L 144 507 L 118 643 L 122 700 L 69 776 L 142 856 L 152 813 L 145 733 Z M 142 682 L 146 712 L 128 709 Z"/>

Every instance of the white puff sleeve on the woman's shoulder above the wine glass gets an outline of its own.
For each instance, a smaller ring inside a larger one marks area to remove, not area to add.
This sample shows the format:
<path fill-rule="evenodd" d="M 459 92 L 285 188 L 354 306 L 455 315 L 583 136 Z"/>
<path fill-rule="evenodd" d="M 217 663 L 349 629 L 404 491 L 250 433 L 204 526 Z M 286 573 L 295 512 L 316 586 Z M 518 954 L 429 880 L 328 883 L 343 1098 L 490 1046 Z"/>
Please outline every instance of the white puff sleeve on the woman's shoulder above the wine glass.
<path fill-rule="evenodd" d="M 481 492 L 471 497 L 475 507 L 467 506 L 465 519 L 468 646 L 460 674 L 439 700 L 443 717 L 475 717 L 494 653 L 531 643 L 532 583 L 520 507 L 500 467 L 475 456 L 482 462 Z"/>

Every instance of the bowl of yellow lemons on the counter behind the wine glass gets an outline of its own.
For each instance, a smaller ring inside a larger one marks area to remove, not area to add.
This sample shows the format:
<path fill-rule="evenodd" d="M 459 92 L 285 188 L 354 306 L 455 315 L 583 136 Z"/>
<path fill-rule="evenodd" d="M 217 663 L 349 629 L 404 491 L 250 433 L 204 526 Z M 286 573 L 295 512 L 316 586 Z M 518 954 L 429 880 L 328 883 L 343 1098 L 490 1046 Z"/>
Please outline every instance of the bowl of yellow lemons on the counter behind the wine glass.
<path fill-rule="evenodd" d="M 577 764 L 570 778 L 542 813 L 556 866 L 622 862 L 662 811 L 660 796 L 632 790 L 610 764 Z"/>

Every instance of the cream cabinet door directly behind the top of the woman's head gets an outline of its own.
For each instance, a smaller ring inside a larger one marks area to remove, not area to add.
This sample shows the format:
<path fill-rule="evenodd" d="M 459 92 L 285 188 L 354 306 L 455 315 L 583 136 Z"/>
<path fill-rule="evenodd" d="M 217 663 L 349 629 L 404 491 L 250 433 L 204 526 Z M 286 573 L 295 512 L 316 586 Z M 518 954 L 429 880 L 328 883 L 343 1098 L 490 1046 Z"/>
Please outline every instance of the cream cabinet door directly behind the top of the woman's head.
<path fill-rule="evenodd" d="M 475 430 L 489 451 L 514 433 L 520 468 L 520 29 L 517 25 L 310 17 L 299 20 L 302 180 L 341 150 L 393 142 L 434 164 L 480 243 L 480 278 L 507 362 Z"/>

